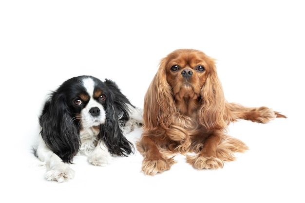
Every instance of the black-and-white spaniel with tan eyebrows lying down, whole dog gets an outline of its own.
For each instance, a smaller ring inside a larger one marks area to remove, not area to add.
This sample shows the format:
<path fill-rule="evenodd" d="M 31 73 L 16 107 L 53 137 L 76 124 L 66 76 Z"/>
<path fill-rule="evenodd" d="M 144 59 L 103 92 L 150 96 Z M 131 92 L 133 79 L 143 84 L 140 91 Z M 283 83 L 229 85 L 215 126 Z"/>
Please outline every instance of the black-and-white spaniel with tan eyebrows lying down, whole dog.
<path fill-rule="evenodd" d="M 112 80 L 73 77 L 45 101 L 34 153 L 46 165 L 47 180 L 65 182 L 75 176 L 69 164 L 77 154 L 88 156 L 95 166 L 108 165 L 112 155 L 133 154 L 134 146 L 125 134 L 141 122 L 142 110 Z"/>

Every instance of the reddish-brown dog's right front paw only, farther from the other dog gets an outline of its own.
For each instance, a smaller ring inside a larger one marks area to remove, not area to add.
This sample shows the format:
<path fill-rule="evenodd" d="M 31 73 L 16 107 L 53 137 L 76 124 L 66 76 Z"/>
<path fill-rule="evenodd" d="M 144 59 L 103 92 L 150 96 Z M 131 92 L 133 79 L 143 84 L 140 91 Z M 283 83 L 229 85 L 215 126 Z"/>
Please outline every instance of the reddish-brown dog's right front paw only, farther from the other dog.
<path fill-rule="evenodd" d="M 187 155 L 187 162 L 194 168 L 202 169 L 218 169 L 224 166 L 224 163 L 217 157 L 206 157 L 200 154 L 191 156 Z"/>

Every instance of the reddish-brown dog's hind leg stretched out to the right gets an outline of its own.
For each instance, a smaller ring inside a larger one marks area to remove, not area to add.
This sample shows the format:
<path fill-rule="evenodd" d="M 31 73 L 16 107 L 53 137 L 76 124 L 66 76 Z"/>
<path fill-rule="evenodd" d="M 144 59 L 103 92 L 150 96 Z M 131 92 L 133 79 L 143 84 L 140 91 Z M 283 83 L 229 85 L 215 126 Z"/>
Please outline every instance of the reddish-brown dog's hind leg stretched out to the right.
<path fill-rule="evenodd" d="M 267 123 L 275 118 L 286 118 L 285 115 L 267 107 L 249 108 L 237 103 L 226 103 L 226 110 L 229 121 L 245 119 L 257 123 Z"/>

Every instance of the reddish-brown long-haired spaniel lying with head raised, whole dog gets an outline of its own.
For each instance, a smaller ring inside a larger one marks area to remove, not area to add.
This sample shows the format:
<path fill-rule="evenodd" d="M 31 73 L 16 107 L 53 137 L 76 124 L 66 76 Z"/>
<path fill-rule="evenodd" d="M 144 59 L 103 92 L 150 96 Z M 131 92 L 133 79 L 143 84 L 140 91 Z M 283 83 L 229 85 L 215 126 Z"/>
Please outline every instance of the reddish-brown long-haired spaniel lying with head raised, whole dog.
<path fill-rule="evenodd" d="M 285 115 L 267 107 L 248 108 L 224 98 L 214 59 L 194 49 L 178 49 L 161 59 L 145 94 L 143 133 L 136 148 L 143 155 L 142 171 L 155 175 L 186 155 L 197 169 L 217 169 L 248 149 L 226 134 L 238 119 L 267 123 Z"/>

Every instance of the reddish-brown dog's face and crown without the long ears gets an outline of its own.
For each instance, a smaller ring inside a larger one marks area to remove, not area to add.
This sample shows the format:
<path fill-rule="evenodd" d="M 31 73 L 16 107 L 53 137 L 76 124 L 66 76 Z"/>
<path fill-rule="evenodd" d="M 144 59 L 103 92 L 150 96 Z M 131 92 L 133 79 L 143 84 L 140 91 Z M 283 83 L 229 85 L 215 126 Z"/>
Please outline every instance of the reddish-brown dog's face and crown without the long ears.
<path fill-rule="evenodd" d="M 172 52 L 161 61 L 161 66 L 176 101 L 200 98 L 208 75 L 215 69 L 209 56 L 190 49 Z"/>

